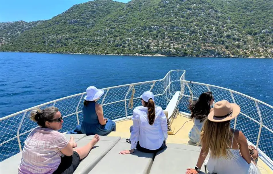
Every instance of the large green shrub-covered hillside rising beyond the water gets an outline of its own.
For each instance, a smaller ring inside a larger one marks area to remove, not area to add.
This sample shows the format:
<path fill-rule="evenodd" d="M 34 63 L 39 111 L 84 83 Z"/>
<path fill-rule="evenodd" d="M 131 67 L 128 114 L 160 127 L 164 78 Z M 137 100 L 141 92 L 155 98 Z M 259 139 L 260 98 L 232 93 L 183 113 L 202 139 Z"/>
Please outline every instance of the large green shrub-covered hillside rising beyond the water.
<path fill-rule="evenodd" d="M 273 1 L 89 1 L 14 35 L 0 51 L 273 57 Z"/>

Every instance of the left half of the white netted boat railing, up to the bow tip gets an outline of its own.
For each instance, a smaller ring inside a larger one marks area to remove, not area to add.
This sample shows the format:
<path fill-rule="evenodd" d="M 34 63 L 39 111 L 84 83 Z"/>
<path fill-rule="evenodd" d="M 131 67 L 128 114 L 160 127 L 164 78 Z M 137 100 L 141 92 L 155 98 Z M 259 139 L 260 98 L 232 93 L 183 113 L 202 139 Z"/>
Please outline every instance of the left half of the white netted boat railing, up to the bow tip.
<path fill-rule="evenodd" d="M 152 91 L 155 102 L 166 107 L 175 91 L 180 91 L 180 79 L 185 80 L 185 70 L 169 71 L 159 80 L 104 88 L 104 94 L 97 102 L 102 105 L 104 117 L 115 121 L 126 119 L 132 115 L 132 104 L 140 103 L 140 95 L 145 91 Z M 37 124 L 29 119 L 33 109 L 58 107 L 64 120 L 59 131 L 67 132 L 82 122 L 85 95 L 86 92 L 63 97 L 0 118 L 0 161 L 22 151 L 29 132 L 37 127 Z"/>

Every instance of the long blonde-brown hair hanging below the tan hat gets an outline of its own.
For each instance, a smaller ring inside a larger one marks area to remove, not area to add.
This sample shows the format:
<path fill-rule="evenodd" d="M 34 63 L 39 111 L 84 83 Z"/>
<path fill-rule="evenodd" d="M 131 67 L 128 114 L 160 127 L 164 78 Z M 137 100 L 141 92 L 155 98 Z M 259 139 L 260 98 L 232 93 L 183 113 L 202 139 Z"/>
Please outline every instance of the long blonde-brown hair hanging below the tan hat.
<path fill-rule="evenodd" d="M 200 144 L 204 150 L 204 154 L 217 158 L 220 156 L 227 156 L 226 149 L 229 149 L 228 144 L 233 134 L 230 131 L 230 121 L 226 122 L 212 122 L 205 120 L 200 134 Z"/>

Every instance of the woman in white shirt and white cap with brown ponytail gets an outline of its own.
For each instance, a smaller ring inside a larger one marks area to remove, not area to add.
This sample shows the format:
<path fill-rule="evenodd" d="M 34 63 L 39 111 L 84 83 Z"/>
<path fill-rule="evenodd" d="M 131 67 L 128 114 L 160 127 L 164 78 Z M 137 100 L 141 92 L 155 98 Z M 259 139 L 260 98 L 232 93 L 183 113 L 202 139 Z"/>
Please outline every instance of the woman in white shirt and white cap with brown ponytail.
<path fill-rule="evenodd" d="M 150 91 L 141 96 L 142 106 L 133 110 L 133 126 L 131 126 L 131 150 L 123 150 L 120 154 L 133 153 L 137 148 L 145 153 L 156 153 L 166 147 L 167 118 L 160 106 L 154 104 L 154 94 Z"/>

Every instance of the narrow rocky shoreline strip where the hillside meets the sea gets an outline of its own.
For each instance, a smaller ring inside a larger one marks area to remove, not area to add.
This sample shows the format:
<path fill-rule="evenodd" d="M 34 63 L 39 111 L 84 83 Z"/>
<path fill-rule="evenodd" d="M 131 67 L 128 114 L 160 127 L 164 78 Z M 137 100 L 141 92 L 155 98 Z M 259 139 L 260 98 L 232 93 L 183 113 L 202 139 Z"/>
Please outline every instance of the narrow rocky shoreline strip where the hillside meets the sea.
<path fill-rule="evenodd" d="M 20 52 L 20 51 L 2 51 L 2 52 Z M 273 57 L 253 57 L 253 56 L 249 56 L 249 57 L 243 57 L 243 56 L 166 56 L 166 55 L 162 55 L 162 54 L 88 54 L 88 53 L 62 53 L 62 52 L 20 52 L 20 53 L 44 53 L 44 54 L 83 54 L 83 55 L 107 55 L 107 56 L 147 56 L 147 57 L 204 57 L 204 58 L 271 58 L 273 59 Z"/>

